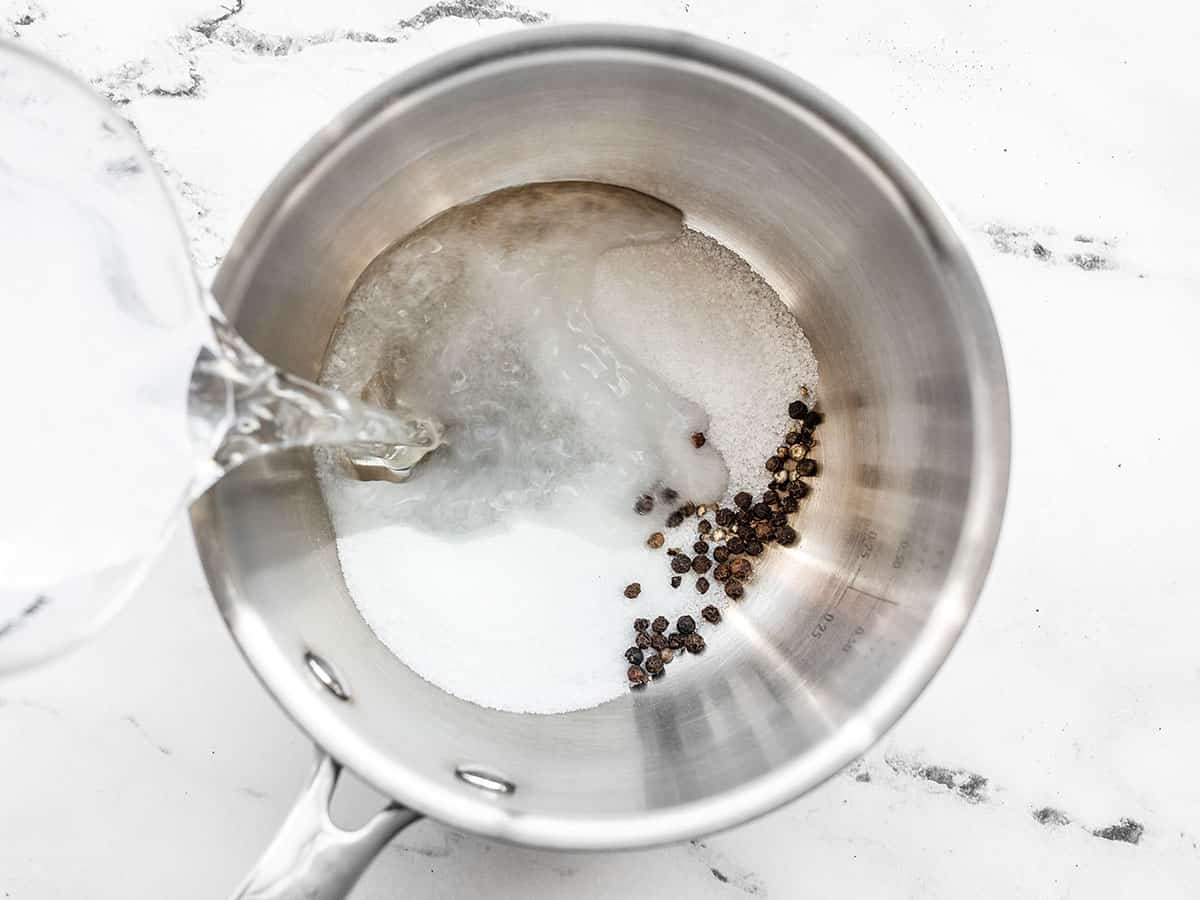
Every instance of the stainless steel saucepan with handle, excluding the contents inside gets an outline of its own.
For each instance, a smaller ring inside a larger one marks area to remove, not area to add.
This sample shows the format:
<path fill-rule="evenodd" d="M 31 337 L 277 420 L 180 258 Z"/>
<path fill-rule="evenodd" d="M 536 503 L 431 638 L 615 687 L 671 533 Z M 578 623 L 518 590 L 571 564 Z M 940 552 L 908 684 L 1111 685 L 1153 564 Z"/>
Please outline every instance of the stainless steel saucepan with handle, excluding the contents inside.
<path fill-rule="evenodd" d="M 533 30 L 440 56 L 304 148 L 242 227 L 216 295 L 254 347 L 314 377 L 380 251 L 454 204 L 558 179 L 674 204 L 799 317 L 827 415 L 802 542 L 776 551 L 703 665 L 595 709 L 516 715 L 443 692 L 374 637 L 342 581 L 308 456 L 222 480 L 193 511 L 209 582 L 250 665 L 320 748 L 239 896 L 344 896 L 419 815 L 596 850 L 743 822 L 862 754 L 971 613 L 1009 461 L 983 288 L 892 151 L 774 66 L 619 28 Z M 396 802 L 359 832 L 328 817 L 340 764 Z"/>

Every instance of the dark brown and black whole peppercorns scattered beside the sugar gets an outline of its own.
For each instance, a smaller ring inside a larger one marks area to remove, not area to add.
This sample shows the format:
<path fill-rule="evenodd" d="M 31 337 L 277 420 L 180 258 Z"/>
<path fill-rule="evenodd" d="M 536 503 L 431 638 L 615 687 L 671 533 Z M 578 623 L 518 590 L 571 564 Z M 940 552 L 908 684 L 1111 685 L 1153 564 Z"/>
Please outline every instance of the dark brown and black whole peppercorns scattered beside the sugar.
<path fill-rule="evenodd" d="M 746 584 L 754 578 L 755 565 L 761 562 L 758 558 L 773 544 L 790 547 L 799 541 L 799 533 L 791 521 L 799 510 L 800 500 L 810 491 L 804 479 L 815 476 L 820 470 L 810 452 L 823 415 L 810 409 L 803 400 L 792 401 L 787 407 L 787 415 L 792 425 L 784 436 L 784 442 L 763 463 L 764 490 L 757 494 L 757 499 L 750 491 L 742 490 L 733 494 L 731 505 L 685 502 L 666 517 L 667 528 L 678 528 L 692 517 L 697 520 L 691 556 L 682 547 L 666 550 L 673 572 L 670 576 L 672 588 L 678 588 L 685 576 L 695 575 L 692 587 L 703 595 L 713 587 L 710 576 L 730 600 L 740 600 L 745 595 Z M 700 432 L 692 434 L 692 445 L 697 449 L 703 446 L 704 436 Z M 673 504 L 678 502 L 679 494 L 665 487 L 659 491 L 659 498 Z M 635 511 L 643 516 L 653 512 L 654 506 L 655 498 L 648 493 L 638 497 L 634 504 Z M 654 532 L 646 539 L 646 546 L 650 550 L 661 550 L 665 544 L 662 532 Z M 640 593 L 641 584 L 637 582 L 625 588 L 626 598 L 637 598 Z M 700 613 L 709 624 L 715 625 L 721 620 L 720 608 L 712 604 Z M 625 650 L 630 688 L 644 688 L 652 678 L 661 677 L 666 665 L 682 653 L 704 652 L 704 638 L 696 631 L 695 618 L 680 616 L 674 631 L 668 632 L 670 628 L 671 623 L 665 616 L 658 616 L 653 620 L 634 619 L 634 646 Z"/>

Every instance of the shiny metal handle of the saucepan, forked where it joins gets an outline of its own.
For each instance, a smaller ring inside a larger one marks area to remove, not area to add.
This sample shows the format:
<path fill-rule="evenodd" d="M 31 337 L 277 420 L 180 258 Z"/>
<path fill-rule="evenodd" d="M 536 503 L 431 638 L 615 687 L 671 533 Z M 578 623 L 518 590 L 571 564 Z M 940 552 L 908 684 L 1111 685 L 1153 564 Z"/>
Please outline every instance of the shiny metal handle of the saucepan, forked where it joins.
<path fill-rule="evenodd" d="M 234 900 L 343 900 L 388 841 L 421 817 L 392 804 L 361 828 L 338 828 L 329 804 L 341 772 L 329 754 L 317 751 L 308 785 Z"/>

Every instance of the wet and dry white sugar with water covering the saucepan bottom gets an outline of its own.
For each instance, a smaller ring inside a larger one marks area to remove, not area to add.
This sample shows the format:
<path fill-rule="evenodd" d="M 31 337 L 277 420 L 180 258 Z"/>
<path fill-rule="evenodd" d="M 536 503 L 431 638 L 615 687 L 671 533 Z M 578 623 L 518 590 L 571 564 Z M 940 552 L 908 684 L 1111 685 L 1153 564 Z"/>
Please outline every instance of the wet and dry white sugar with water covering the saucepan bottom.
<path fill-rule="evenodd" d="M 628 690 L 635 617 L 720 605 L 720 587 L 702 596 L 691 574 L 671 588 L 670 558 L 646 546 L 664 530 L 690 554 L 695 520 L 667 530 L 671 505 L 638 516 L 634 502 L 761 491 L 816 365 L 770 288 L 677 210 L 563 184 L 451 210 L 384 253 L 322 380 L 446 426 L 446 446 L 403 485 L 323 457 L 366 622 L 458 697 L 558 713 Z"/>

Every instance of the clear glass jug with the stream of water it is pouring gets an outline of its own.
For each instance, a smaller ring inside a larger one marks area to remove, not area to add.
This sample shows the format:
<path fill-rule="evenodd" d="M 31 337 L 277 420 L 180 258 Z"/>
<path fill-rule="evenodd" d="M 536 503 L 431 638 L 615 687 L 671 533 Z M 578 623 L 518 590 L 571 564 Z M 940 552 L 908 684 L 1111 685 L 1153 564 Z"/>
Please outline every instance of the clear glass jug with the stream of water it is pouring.
<path fill-rule="evenodd" d="M 241 462 L 344 444 L 402 479 L 440 442 L 280 372 L 199 287 L 130 125 L 0 42 L 0 672 L 78 643 L 186 505 Z"/>

